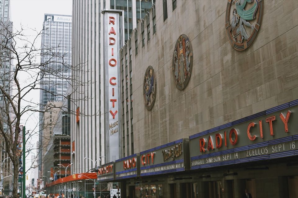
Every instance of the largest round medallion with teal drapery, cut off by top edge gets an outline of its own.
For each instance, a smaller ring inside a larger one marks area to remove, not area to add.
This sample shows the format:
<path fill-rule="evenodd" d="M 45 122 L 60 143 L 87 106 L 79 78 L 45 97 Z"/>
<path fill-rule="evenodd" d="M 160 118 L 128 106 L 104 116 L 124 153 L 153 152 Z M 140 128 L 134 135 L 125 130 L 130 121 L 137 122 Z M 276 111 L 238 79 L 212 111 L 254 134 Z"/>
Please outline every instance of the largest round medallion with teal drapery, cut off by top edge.
<path fill-rule="evenodd" d="M 263 0 L 228 0 L 226 30 L 234 49 L 248 48 L 260 29 Z"/>

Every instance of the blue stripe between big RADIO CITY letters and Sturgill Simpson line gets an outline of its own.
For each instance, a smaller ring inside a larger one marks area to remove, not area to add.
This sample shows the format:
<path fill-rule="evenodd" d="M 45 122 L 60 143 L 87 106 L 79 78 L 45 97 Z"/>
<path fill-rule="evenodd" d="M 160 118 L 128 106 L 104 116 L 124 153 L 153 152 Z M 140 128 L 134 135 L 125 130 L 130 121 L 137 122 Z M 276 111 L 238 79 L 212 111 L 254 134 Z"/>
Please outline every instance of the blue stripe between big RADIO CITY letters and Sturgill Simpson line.
<path fill-rule="evenodd" d="M 224 155 L 224 154 L 228 154 L 228 153 L 235 153 L 235 152 L 239 152 L 239 151 L 245 151 L 245 150 L 249 150 L 249 149 L 255 149 L 255 148 L 259 148 L 259 147 L 263 147 L 263 146 L 269 146 L 272 144 L 279 144 L 279 143 L 289 142 L 289 141 L 294 141 L 294 140 L 298 140 L 298 135 L 284 137 L 284 138 L 280 138 L 280 139 L 276 139 L 276 140 L 270 140 L 267 142 L 261 142 L 261 143 L 257 143 L 257 144 L 251 144 L 251 145 L 242 146 L 242 147 L 238 147 L 235 149 L 224 150 L 224 151 L 220 151 L 220 152 L 216 152 L 216 153 L 194 156 L 194 157 L 191 157 L 190 160 L 197 160 L 197 159 L 201 159 L 201 158 L 205 158 L 205 157 L 213 157 L 213 156 Z"/>

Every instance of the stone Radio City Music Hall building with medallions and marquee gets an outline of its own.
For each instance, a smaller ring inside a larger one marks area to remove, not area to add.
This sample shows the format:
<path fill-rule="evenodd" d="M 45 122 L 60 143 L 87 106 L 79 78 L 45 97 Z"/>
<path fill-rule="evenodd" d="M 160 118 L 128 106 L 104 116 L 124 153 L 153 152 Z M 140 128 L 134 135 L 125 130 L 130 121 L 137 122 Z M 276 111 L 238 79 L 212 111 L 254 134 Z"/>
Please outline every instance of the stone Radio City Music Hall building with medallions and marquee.
<path fill-rule="evenodd" d="M 121 195 L 298 197 L 297 25 L 295 1 L 156 1 L 120 49 Z"/>

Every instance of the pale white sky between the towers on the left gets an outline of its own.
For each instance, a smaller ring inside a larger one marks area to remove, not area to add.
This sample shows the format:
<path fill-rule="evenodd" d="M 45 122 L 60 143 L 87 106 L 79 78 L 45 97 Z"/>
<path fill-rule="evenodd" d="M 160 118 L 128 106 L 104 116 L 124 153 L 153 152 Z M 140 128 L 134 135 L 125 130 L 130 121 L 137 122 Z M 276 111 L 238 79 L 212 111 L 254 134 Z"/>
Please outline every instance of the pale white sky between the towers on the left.
<path fill-rule="evenodd" d="M 61 14 L 61 15 L 72 15 L 72 0 L 11 0 L 11 18 L 15 29 L 20 30 L 21 25 L 25 26 L 25 29 L 32 28 L 38 32 L 43 28 L 44 14 Z M 25 32 L 26 35 L 32 34 L 33 32 Z M 20 44 L 21 45 L 21 44 Z M 38 41 L 37 46 L 41 46 L 41 41 Z M 29 94 L 32 100 L 36 103 L 39 102 L 39 90 L 32 94 Z M 26 123 L 26 130 L 32 130 L 38 125 L 38 113 L 29 118 L 30 123 Z M 27 118 L 23 118 L 26 120 Z M 38 129 L 37 129 L 38 130 Z M 33 140 L 31 144 L 36 144 L 36 140 Z M 31 156 L 26 158 L 26 170 L 30 167 Z M 30 178 L 29 178 L 30 180 Z M 29 184 L 29 180 L 26 184 Z"/>

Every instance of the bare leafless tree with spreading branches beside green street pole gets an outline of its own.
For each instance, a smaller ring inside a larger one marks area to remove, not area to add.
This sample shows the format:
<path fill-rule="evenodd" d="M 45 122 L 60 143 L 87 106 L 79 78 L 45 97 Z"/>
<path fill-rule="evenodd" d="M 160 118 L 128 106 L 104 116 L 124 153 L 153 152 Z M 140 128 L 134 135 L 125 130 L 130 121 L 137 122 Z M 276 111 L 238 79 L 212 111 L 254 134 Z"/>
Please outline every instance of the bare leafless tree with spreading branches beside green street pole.
<path fill-rule="evenodd" d="M 12 29 L 11 22 L 0 21 L 0 136 L 5 144 L 7 155 L 13 164 L 12 195 L 17 198 L 19 158 L 21 154 L 20 149 L 18 149 L 20 147 L 18 137 L 22 131 L 13 131 L 13 127 L 18 129 L 22 125 L 24 117 L 29 117 L 28 121 L 32 121 L 30 115 L 36 114 L 36 112 L 43 114 L 52 109 L 60 108 L 55 103 L 40 106 L 39 101 L 30 99 L 34 97 L 32 94 L 36 93 L 37 90 L 39 94 L 39 91 L 42 90 L 48 93 L 50 98 L 52 96 L 67 97 L 65 93 L 51 92 L 51 86 L 55 86 L 57 82 L 51 82 L 49 76 L 66 80 L 70 86 L 74 84 L 84 85 L 90 82 L 83 82 L 82 79 L 63 75 L 64 72 L 61 72 L 63 69 L 71 69 L 71 71 L 82 74 L 88 71 L 82 70 L 84 68 L 82 67 L 83 63 L 77 66 L 67 64 L 64 61 L 67 50 L 63 47 L 59 45 L 48 47 L 38 44 L 38 39 L 44 34 L 45 27 L 41 31 L 35 31 L 34 35 L 25 35 L 23 28 L 13 31 Z M 37 45 L 40 47 L 37 47 Z M 40 58 L 43 56 L 47 56 L 47 59 L 41 60 Z M 57 63 L 62 67 L 54 67 Z M 74 86 L 71 90 L 79 93 Z M 87 97 L 83 100 L 87 100 Z M 71 102 L 76 104 L 76 101 Z M 75 111 L 70 110 L 70 113 L 75 114 Z M 26 143 L 30 141 L 30 137 L 38 136 L 39 131 L 38 124 L 35 129 L 26 130 Z M 34 144 L 26 146 L 25 155 L 36 149 L 32 145 Z"/>

